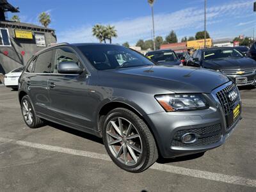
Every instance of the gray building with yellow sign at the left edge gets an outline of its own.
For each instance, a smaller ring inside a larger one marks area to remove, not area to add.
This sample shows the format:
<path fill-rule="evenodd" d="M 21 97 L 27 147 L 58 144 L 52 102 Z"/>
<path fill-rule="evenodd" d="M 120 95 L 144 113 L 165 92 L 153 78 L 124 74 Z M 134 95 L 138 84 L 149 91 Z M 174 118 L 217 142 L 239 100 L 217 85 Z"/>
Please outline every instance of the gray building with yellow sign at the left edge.
<path fill-rule="evenodd" d="M 54 29 L 6 18 L 7 12 L 19 12 L 7 0 L 0 0 L 0 73 L 26 65 L 33 54 L 56 44 Z"/>

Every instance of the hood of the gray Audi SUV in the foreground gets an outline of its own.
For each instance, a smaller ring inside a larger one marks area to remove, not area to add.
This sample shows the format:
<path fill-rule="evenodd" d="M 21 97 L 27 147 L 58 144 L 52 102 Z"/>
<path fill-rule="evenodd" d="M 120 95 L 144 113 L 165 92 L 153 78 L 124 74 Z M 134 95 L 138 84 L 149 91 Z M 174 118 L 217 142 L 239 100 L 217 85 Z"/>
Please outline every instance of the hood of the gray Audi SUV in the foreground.
<path fill-rule="evenodd" d="M 113 78 L 113 81 L 122 84 L 122 88 L 129 86 L 133 90 L 138 87 L 152 90 L 155 87 L 157 92 L 164 89 L 175 93 L 210 93 L 230 81 L 219 72 L 175 65 L 119 68 L 108 73 L 105 77 Z"/>

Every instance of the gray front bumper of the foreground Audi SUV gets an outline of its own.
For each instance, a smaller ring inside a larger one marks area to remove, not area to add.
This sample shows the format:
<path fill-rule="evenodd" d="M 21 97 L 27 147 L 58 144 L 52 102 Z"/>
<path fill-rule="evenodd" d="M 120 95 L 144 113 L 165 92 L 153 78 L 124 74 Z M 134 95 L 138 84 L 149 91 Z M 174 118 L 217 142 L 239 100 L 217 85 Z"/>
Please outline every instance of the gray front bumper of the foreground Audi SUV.
<path fill-rule="evenodd" d="M 154 133 L 161 156 L 168 158 L 205 152 L 225 143 L 225 140 L 234 131 L 237 123 L 241 120 L 241 111 L 234 123 L 227 127 L 226 116 L 220 102 L 212 94 L 205 94 L 205 97 L 210 104 L 208 109 L 154 113 L 144 117 Z M 239 104 L 241 105 L 240 101 Z M 216 130 L 212 131 L 214 129 Z M 190 132 L 190 130 L 203 130 L 205 139 L 202 138 L 200 141 L 198 138 L 198 143 L 195 142 L 191 145 L 181 143 L 175 138 L 177 132 Z M 205 132 L 205 130 L 211 131 Z"/>

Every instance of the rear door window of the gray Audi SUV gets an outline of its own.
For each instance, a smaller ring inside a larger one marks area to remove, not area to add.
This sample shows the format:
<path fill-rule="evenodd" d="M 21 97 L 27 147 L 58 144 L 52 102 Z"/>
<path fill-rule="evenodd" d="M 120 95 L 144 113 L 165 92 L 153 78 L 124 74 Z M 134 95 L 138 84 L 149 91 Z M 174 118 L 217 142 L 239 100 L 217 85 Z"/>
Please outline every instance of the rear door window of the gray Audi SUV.
<path fill-rule="evenodd" d="M 35 65 L 35 73 L 51 73 L 53 68 L 53 52 L 46 51 L 38 55 Z"/>

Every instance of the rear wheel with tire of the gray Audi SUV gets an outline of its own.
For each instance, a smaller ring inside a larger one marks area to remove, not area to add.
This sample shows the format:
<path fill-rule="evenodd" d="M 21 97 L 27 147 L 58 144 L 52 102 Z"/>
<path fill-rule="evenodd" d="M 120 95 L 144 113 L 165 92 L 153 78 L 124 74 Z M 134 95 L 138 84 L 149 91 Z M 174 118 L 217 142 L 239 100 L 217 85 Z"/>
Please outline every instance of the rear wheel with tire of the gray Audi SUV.
<path fill-rule="evenodd" d="M 38 128 L 44 126 L 44 121 L 36 116 L 35 109 L 28 95 L 22 97 L 20 101 L 20 108 L 24 122 L 28 127 Z"/>

